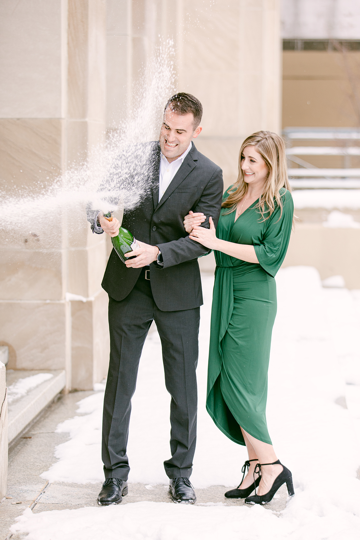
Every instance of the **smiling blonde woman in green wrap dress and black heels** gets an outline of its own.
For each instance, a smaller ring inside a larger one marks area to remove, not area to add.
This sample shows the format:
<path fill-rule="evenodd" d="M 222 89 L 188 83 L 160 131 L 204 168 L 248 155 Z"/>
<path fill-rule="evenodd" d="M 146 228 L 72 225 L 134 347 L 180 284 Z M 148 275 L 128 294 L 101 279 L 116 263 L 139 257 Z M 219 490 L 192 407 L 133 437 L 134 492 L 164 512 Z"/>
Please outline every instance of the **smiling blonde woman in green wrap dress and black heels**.
<path fill-rule="evenodd" d="M 206 408 L 225 435 L 247 447 L 242 481 L 225 496 L 249 504 L 271 501 L 285 482 L 294 495 L 265 415 L 274 276 L 286 255 L 293 212 L 283 140 L 259 131 L 241 146 L 239 177 L 223 196 L 217 230 L 212 218 L 210 229 L 200 227 L 205 219 L 200 213 L 190 212 L 184 220 L 190 238 L 215 252 Z"/>

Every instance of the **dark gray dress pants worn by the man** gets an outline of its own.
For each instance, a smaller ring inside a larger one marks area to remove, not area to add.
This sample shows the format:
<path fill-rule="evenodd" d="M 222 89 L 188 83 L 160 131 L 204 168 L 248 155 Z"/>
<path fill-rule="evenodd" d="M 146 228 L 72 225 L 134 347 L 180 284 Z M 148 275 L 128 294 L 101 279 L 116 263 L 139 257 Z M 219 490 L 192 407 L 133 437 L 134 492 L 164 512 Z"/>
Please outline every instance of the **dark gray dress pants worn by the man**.
<path fill-rule="evenodd" d="M 196 365 L 200 308 L 160 311 L 143 268 L 131 293 L 120 302 L 109 297 L 110 366 L 103 414 L 105 478 L 127 480 L 126 446 L 141 350 L 154 320 L 161 339 L 165 384 L 171 395 L 169 478 L 190 476 L 196 444 L 198 393 Z M 146 441 L 144 446 L 146 460 Z"/>

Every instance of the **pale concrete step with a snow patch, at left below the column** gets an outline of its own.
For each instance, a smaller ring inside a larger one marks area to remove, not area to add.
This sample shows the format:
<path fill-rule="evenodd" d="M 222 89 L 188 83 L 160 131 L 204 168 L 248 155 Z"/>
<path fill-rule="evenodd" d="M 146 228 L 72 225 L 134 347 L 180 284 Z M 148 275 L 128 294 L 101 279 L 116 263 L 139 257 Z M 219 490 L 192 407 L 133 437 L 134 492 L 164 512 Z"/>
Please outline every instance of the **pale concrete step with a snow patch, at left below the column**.
<path fill-rule="evenodd" d="M 48 374 L 46 377 L 34 375 Z M 43 380 L 43 381 L 42 381 Z M 40 382 L 39 382 L 40 381 Z M 39 382 L 36 386 L 36 382 Z M 29 429 L 39 414 L 65 387 L 65 370 L 6 370 L 9 446 Z"/>

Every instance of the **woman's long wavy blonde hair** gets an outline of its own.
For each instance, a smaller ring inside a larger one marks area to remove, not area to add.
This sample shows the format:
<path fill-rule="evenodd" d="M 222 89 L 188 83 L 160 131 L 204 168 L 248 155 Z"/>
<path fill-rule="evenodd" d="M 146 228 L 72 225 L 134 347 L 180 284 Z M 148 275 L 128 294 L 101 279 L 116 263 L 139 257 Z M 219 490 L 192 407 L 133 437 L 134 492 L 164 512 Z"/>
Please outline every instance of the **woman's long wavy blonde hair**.
<path fill-rule="evenodd" d="M 237 203 L 246 195 L 248 186 L 244 180 L 244 172 L 241 168 L 241 157 L 244 148 L 247 146 L 255 146 L 256 152 L 259 152 L 269 171 L 263 193 L 260 195 L 259 202 L 255 208 L 259 208 L 262 220 L 266 221 L 274 212 L 275 206 L 280 206 L 281 217 L 282 194 L 284 191 L 280 193 L 280 190 L 286 188 L 291 191 L 291 188 L 288 180 L 284 141 L 279 135 L 271 131 L 256 131 L 256 133 L 253 133 L 243 141 L 239 154 L 239 176 L 229 191 L 229 196 L 223 201 L 221 206 L 230 208 L 226 212 L 227 214 L 233 212 Z"/>

